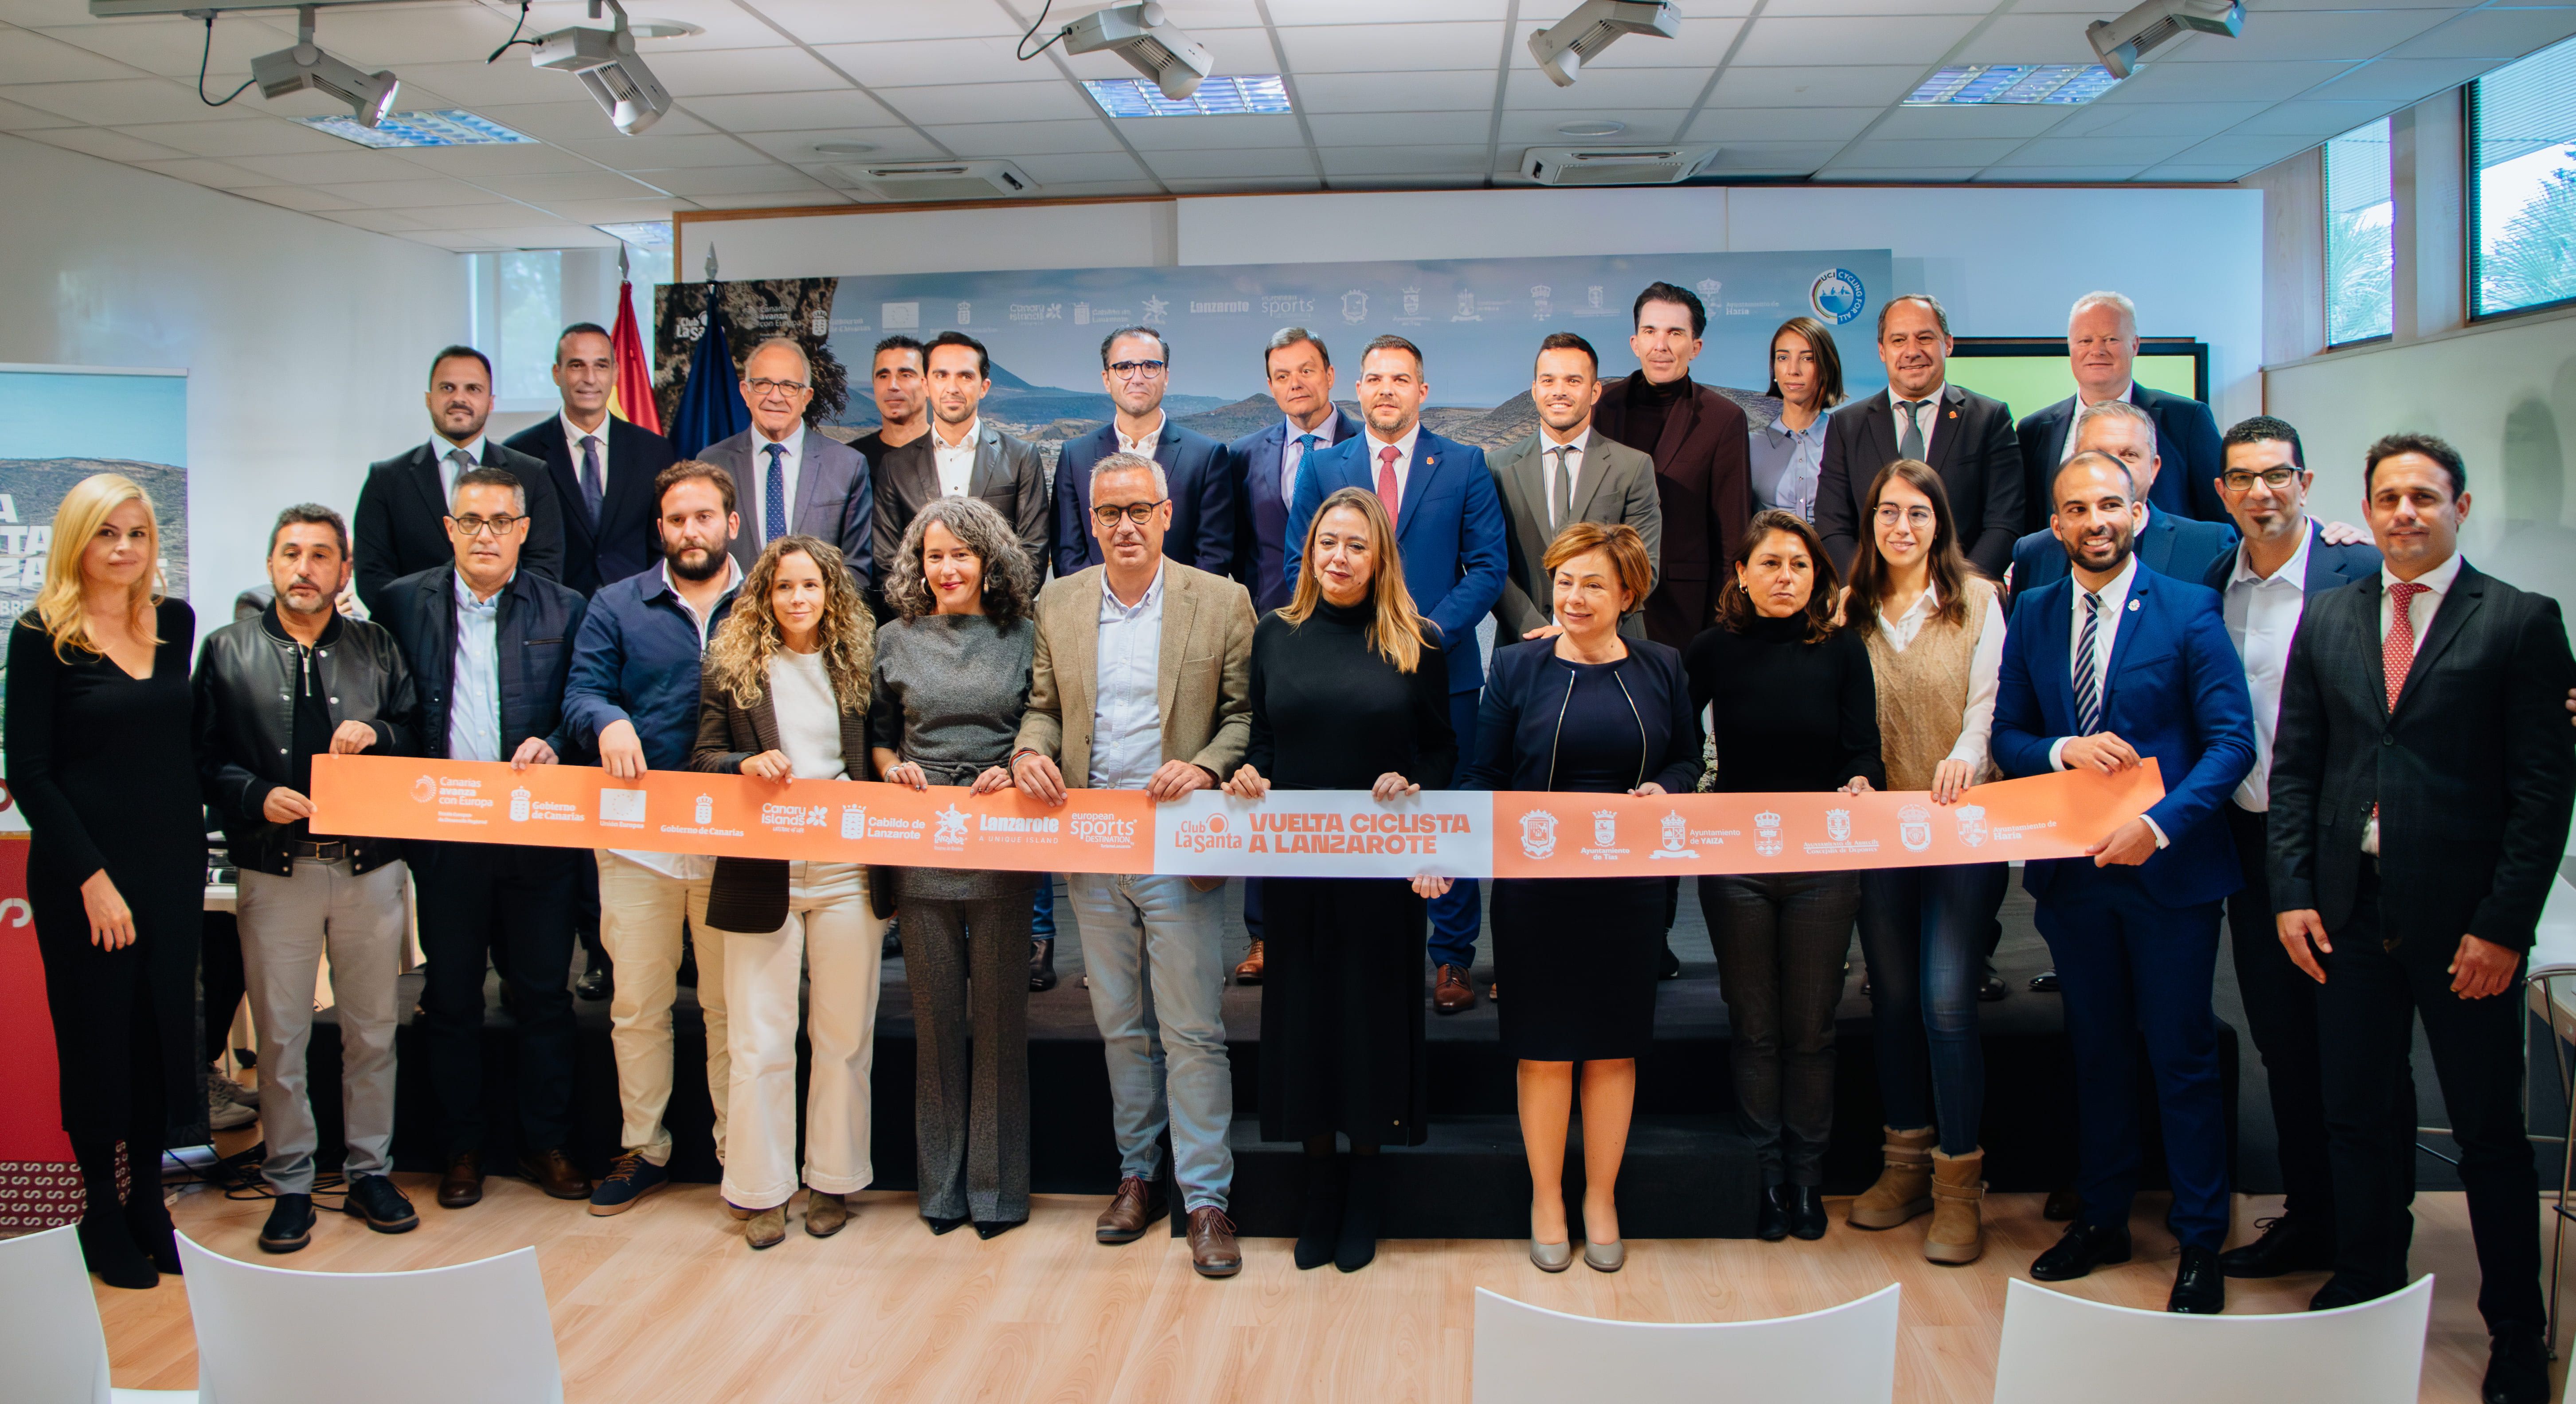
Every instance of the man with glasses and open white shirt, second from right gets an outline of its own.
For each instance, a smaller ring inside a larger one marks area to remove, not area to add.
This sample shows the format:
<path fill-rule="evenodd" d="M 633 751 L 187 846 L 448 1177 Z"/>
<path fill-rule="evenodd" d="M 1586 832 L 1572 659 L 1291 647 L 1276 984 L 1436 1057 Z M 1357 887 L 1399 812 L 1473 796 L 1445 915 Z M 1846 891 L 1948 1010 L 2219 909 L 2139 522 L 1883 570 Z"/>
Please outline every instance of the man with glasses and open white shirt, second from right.
<path fill-rule="evenodd" d="M 2316 1061 L 2316 982 L 2303 976 L 2272 927 L 2272 884 L 2264 878 L 2264 811 L 2272 809 L 2272 729 L 2280 724 L 2280 683 L 2290 665 L 2290 639 L 2308 598 L 2380 572 L 2380 549 L 2331 544 L 2308 518 L 2308 471 L 2298 430 L 2272 417 L 2244 420 L 2221 441 L 2226 471 L 2213 489 L 2244 538 L 2210 562 L 2200 577 L 2218 590 L 2228 639 L 2246 665 L 2254 698 L 2254 770 L 2226 804 L 2228 837 L 2244 886 L 2228 896 L 2228 935 L 2236 987 L 2246 1002 L 2246 1033 L 2262 1054 L 2272 1087 L 2272 1128 L 2280 1144 L 2280 1182 L 2287 1190 L 2277 1219 L 2251 1244 L 2221 1255 L 2228 1278 L 2280 1278 L 2334 1267 L 2334 1180 L 2326 1172 L 2326 1100 Z M 2406 1105 L 2406 1141 L 2414 1144 L 2414 1103 Z"/>

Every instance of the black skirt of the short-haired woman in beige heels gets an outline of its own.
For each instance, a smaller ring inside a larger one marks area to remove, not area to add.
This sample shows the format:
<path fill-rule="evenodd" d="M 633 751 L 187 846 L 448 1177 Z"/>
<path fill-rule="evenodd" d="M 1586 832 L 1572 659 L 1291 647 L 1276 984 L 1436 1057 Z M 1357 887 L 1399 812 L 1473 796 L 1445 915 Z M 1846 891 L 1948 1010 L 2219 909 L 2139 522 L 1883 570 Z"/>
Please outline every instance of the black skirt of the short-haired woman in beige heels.
<path fill-rule="evenodd" d="M 1654 1041 L 1664 878 L 1494 884 L 1502 1048 L 1530 1061 L 1638 1059 Z"/>

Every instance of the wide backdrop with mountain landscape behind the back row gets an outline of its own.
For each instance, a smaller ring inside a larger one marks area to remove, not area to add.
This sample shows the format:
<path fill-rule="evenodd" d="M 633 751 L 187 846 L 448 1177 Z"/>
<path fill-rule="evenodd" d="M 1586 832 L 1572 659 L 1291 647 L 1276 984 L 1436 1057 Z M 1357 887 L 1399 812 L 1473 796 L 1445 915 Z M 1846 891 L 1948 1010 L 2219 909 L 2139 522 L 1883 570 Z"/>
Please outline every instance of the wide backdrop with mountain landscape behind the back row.
<path fill-rule="evenodd" d="M 1757 422 L 1777 412 L 1762 392 L 1772 332 L 1790 317 L 1834 330 L 1850 394 L 1886 386 L 1868 345 L 1878 304 L 1893 291 L 1888 250 L 765 278 L 716 283 L 714 304 L 737 358 L 773 335 L 822 353 L 814 415 L 842 441 L 878 422 L 868 366 L 881 337 L 961 330 L 992 353 L 984 420 L 1054 453 L 1110 420 L 1100 340 L 1144 325 L 1172 350 L 1164 412 L 1208 438 L 1239 438 L 1278 417 L 1262 348 L 1280 327 L 1306 327 L 1332 350 L 1345 410 L 1355 410 L 1360 350 L 1394 332 L 1422 348 L 1432 392 L 1422 422 L 1461 443 L 1502 448 L 1538 428 L 1530 404 L 1538 340 L 1579 332 L 1600 353 L 1602 376 L 1625 376 L 1636 371 L 1631 309 L 1656 281 L 1692 289 L 1708 304 L 1692 379 L 1744 404 Z M 708 283 L 657 289 L 654 386 L 665 422 L 706 314 Z"/>

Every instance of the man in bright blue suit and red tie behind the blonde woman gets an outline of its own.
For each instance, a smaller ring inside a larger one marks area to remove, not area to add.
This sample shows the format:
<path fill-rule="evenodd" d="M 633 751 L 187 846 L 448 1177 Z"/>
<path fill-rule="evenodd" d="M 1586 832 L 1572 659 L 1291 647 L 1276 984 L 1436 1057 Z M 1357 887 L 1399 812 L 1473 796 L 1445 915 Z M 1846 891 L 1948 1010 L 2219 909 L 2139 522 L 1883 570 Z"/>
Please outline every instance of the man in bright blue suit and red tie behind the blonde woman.
<path fill-rule="evenodd" d="M 1414 343 L 1396 335 L 1368 343 L 1358 389 L 1368 430 L 1306 461 L 1288 508 L 1288 541 L 1306 541 L 1316 508 L 1342 487 L 1376 492 L 1386 502 L 1386 515 L 1396 520 L 1404 587 L 1414 593 L 1422 618 L 1440 626 L 1440 647 L 1448 652 L 1450 726 L 1458 732 L 1458 770 L 1466 770 L 1476 755 L 1476 701 L 1484 690 L 1476 626 L 1494 613 L 1510 577 L 1502 495 L 1484 466 L 1484 448 L 1422 428 L 1430 381 L 1422 379 L 1422 350 Z M 1298 551 L 1288 551 L 1291 590 L 1301 564 Z M 1448 1015 L 1476 1002 L 1468 984 L 1476 927 L 1484 925 L 1476 881 L 1463 878 L 1448 896 L 1435 896 L 1430 917 L 1432 1007 Z"/>

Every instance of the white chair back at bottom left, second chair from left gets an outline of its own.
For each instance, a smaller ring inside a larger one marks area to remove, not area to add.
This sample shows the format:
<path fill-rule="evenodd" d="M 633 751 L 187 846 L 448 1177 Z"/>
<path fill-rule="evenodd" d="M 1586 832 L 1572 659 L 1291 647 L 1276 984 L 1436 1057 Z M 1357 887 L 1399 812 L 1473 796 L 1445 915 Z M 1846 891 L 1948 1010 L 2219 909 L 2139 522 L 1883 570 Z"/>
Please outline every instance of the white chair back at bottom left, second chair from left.
<path fill-rule="evenodd" d="M 206 1404 L 562 1404 L 536 1249 L 420 1273 L 296 1273 L 180 1234 Z"/>

